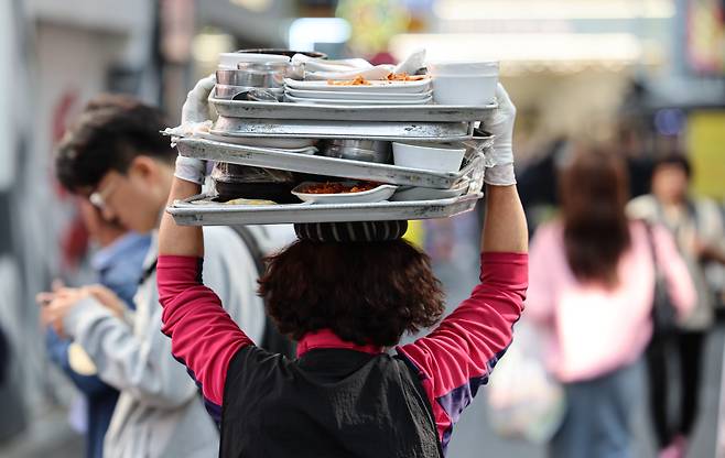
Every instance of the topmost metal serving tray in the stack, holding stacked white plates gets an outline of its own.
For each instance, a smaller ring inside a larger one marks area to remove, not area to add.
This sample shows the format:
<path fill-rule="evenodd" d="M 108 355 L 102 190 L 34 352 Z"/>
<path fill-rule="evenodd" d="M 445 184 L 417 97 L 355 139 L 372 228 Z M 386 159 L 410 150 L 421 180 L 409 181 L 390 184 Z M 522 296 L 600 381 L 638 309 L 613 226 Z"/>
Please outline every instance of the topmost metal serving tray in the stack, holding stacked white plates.
<path fill-rule="evenodd" d="M 420 121 L 472 122 L 481 120 L 498 107 L 456 105 L 305 105 L 249 100 L 221 100 L 209 97 L 219 116 L 246 119 L 296 119 L 316 121 Z"/>

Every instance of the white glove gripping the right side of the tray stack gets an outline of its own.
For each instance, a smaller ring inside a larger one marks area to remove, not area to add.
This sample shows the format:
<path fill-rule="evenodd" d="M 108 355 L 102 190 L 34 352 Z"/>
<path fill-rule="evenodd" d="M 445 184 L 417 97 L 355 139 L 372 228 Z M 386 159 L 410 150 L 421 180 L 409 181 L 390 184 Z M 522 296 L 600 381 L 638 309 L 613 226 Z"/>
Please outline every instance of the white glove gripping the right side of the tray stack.
<path fill-rule="evenodd" d="M 516 107 L 508 92 L 499 83 L 496 88 L 498 108 L 481 120 L 481 127 L 495 135 L 494 146 L 486 153 L 486 168 L 484 182 L 494 186 L 510 186 L 516 184 L 513 174 L 513 123 L 516 121 Z"/>

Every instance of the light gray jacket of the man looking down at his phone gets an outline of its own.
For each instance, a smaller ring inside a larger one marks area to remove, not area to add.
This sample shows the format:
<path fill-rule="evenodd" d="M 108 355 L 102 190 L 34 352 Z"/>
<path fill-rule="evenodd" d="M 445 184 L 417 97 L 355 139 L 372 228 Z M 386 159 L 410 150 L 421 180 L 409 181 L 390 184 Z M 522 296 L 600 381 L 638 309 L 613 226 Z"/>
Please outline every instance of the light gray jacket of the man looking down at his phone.
<path fill-rule="evenodd" d="M 227 227 L 205 228 L 204 243 L 204 283 L 245 332 L 260 341 L 263 304 L 256 295 L 257 272 L 249 251 Z M 137 310 L 126 320 L 88 298 L 64 324 L 99 378 L 121 392 L 104 444 L 107 458 L 216 456 L 217 427 L 186 369 L 172 358 L 171 339 L 161 332 L 156 258 L 154 235 L 144 261 L 148 275 L 134 298 Z"/>

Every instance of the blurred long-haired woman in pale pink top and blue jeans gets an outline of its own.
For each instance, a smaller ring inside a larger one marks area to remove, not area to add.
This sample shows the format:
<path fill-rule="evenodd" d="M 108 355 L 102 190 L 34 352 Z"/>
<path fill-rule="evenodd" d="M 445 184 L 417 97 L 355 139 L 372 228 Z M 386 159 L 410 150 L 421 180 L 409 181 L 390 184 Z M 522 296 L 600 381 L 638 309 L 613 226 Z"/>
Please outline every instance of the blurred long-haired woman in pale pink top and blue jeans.
<path fill-rule="evenodd" d="M 694 306 L 695 292 L 667 230 L 626 217 L 627 172 L 615 152 L 577 146 L 559 193 L 561 217 L 542 225 L 532 241 L 526 303 L 566 396 L 550 455 L 631 457 L 637 363 L 652 334 L 652 247 L 681 316 Z"/>

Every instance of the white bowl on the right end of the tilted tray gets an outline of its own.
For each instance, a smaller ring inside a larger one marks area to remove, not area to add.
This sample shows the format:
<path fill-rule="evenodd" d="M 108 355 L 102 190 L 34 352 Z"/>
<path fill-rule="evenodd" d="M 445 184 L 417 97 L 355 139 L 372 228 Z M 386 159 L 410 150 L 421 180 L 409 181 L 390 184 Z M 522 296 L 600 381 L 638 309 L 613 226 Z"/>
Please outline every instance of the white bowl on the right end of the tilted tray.
<path fill-rule="evenodd" d="M 392 143 L 396 165 L 435 172 L 458 172 L 465 148 L 441 143 Z"/>

